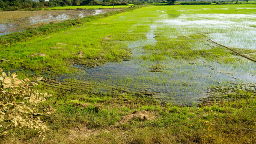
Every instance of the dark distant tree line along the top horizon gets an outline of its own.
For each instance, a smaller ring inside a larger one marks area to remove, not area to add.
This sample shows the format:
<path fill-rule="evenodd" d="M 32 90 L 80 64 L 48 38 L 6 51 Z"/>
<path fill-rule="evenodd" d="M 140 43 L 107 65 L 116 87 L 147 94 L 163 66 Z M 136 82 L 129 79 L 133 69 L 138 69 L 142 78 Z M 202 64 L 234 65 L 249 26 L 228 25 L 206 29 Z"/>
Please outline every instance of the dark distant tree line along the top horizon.
<path fill-rule="evenodd" d="M 129 4 L 145 4 L 165 2 L 169 5 L 173 5 L 174 2 L 180 1 L 177 4 L 182 5 L 194 5 L 194 4 L 212 4 L 210 1 L 216 4 L 229 4 L 230 1 L 233 4 L 237 4 L 238 1 L 249 0 L 0 0 L 0 11 L 10 10 L 39 10 L 47 7 L 64 7 L 69 5 L 129 5 Z"/>

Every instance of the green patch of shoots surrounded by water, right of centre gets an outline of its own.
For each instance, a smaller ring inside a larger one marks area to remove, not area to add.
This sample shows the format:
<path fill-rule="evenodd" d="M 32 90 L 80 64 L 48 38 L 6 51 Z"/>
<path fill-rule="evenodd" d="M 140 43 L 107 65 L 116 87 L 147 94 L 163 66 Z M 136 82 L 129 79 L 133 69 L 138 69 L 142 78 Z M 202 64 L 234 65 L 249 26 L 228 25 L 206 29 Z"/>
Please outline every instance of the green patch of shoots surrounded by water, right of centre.
<path fill-rule="evenodd" d="M 158 34 L 162 35 L 162 34 Z M 145 50 L 156 50 L 156 53 L 142 56 L 144 59 L 151 61 L 163 61 L 166 56 L 175 59 L 184 59 L 186 61 L 196 61 L 197 59 L 206 59 L 207 61 L 218 61 L 230 63 L 236 61 L 232 53 L 221 47 L 212 47 L 212 49 L 193 49 L 198 40 L 207 40 L 204 35 L 192 35 L 190 37 L 178 38 L 160 38 L 157 37 L 156 46 L 146 46 Z M 255 50 L 252 50 L 255 51 Z"/>

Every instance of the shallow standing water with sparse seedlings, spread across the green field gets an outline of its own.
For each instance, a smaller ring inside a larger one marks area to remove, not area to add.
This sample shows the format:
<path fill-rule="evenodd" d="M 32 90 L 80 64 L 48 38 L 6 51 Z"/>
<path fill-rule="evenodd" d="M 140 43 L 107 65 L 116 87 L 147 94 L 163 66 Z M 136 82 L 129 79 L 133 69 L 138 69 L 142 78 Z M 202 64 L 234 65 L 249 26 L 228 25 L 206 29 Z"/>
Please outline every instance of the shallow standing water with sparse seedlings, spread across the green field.
<path fill-rule="evenodd" d="M 255 16 L 243 16 L 251 17 L 247 22 L 243 22 L 243 17 L 240 15 L 232 15 L 236 19 L 231 21 L 231 18 L 228 19 L 231 17 L 229 14 L 222 15 L 221 19 L 224 17 L 227 19 L 220 20 L 218 16 L 207 14 L 180 15 L 175 19 L 169 19 L 165 11 L 157 13 L 160 13 L 159 20 L 150 24 L 150 31 L 145 34 L 146 39 L 123 41 L 132 50 L 130 61 L 109 62 L 93 69 L 82 68 L 75 76 L 59 76 L 58 79 L 75 77 L 78 80 L 89 81 L 96 85 L 94 91 L 103 93 L 111 92 L 112 88 L 150 92 L 154 97 L 175 104 L 197 103 L 198 99 L 207 97 L 207 91 L 212 86 L 256 83 L 255 64 L 247 59 L 242 58 L 240 63 L 225 64 L 207 61 L 204 58 L 190 62 L 163 55 L 163 61 L 154 61 L 150 59 L 152 58 L 150 55 L 160 50 L 144 49 L 146 46 L 156 47 L 156 44 L 161 42 L 156 40 L 159 34 L 168 38 L 178 38 L 198 33 L 230 47 L 255 49 L 255 35 L 252 35 L 255 34 L 255 29 L 249 27 L 255 22 Z M 210 20 L 206 19 L 211 16 Z M 228 29 L 230 25 L 233 27 Z M 248 35 L 252 36 L 244 40 L 243 38 Z M 215 47 L 213 43 L 202 40 L 200 43 L 195 42 L 192 49 L 212 49 L 212 47 Z M 147 56 L 150 58 L 144 59 Z"/>

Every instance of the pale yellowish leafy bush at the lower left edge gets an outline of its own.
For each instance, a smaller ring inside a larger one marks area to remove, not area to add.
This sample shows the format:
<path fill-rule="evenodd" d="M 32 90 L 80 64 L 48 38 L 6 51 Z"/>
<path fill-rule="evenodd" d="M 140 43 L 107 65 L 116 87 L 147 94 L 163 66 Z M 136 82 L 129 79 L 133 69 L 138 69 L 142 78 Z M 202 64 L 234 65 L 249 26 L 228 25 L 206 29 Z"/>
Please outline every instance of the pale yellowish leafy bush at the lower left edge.
<path fill-rule="evenodd" d="M 46 101 L 47 93 L 33 91 L 34 82 L 29 79 L 17 79 L 16 73 L 2 73 L 0 77 L 0 137 L 4 137 L 13 128 L 47 130 L 47 126 L 40 119 L 40 115 L 50 115 L 52 107 L 43 110 L 38 105 Z"/>

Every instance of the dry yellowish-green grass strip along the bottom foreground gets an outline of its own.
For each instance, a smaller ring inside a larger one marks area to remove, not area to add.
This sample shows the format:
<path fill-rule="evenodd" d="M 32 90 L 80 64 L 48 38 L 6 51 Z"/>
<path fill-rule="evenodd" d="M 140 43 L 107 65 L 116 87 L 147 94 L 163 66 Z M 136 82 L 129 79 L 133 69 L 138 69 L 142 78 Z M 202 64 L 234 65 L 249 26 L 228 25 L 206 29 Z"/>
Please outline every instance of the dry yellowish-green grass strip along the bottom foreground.
<path fill-rule="evenodd" d="M 44 137 L 31 130 L 12 130 L 14 143 L 253 143 L 255 97 L 201 107 L 161 105 L 133 94 L 66 95 L 53 98 L 56 112 L 43 117 L 50 127 Z M 90 102 L 86 98 L 97 99 Z M 75 100 L 74 100 L 75 99 Z M 137 112 L 151 120 L 122 117 Z M 44 139 L 44 140 L 43 140 Z M 8 143 L 12 139 L 5 139 Z"/>

